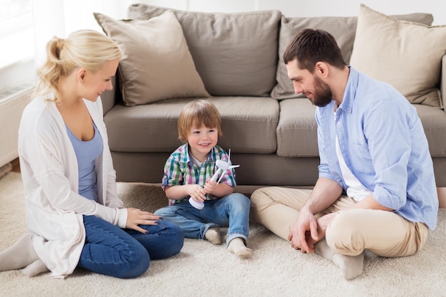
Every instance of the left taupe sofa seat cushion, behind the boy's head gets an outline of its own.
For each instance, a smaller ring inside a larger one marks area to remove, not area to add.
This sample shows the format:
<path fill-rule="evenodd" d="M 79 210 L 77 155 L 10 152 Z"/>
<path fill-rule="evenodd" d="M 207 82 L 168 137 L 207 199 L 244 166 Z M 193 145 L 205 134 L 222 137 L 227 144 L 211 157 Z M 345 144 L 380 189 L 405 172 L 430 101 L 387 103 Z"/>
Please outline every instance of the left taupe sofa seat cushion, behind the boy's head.
<path fill-rule="evenodd" d="M 177 120 L 192 99 L 164 100 L 132 108 L 115 105 L 105 114 L 110 149 L 118 152 L 173 152 L 179 145 Z M 272 98 L 207 98 L 222 116 L 219 145 L 232 152 L 276 152 L 279 103 Z M 156 141 L 153 141 L 156 140 Z"/>

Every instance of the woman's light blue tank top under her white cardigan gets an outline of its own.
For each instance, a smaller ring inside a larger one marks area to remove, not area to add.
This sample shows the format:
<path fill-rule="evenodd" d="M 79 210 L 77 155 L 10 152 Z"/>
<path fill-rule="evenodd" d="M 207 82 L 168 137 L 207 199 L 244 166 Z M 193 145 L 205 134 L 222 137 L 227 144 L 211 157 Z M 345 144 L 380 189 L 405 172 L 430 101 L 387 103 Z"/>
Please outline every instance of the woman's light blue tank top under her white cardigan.
<path fill-rule="evenodd" d="M 95 159 L 102 154 L 103 140 L 98 132 L 98 127 L 93 123 L 95 135 L 92 140 L 82 141 L 66 127 L 68 137 L 73 144 L 74 152 L 78 160 L 79 190 L 78 193 L 87 199 L 98 202 L 98 187 L 96 185 Z"/>

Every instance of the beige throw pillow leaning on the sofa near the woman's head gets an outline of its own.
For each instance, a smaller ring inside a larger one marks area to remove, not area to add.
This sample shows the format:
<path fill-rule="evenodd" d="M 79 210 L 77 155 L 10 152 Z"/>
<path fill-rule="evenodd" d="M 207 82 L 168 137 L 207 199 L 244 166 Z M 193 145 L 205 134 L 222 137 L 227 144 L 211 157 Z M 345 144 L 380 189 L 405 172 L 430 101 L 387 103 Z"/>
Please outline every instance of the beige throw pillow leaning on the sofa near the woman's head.
<path fill-rule="evenodd" d="M 148 21 L 94 16 L 125 54 L 119 63 L 119 83 L 126 105 L 209 97 L 175 14 L 167 11 Z"/>

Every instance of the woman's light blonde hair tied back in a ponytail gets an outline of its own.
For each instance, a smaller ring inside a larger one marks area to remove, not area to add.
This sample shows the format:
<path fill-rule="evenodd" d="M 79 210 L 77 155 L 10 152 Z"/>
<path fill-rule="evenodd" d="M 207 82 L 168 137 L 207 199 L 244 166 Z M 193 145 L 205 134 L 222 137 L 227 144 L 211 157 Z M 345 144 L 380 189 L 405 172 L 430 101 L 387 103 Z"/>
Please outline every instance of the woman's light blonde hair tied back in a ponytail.
<path fill-rule="evenodd" d="M 76 68 L 95 73 L 107 61 L 122 58 L 118 46 L 103 33 L 79 30 L 66 39 L 54 36 L 46 43 L 46 62 L 38 68 L 38 83 L 33 97 L 52 92 L 55 101 L 61 100 L 59 80 Z"/>

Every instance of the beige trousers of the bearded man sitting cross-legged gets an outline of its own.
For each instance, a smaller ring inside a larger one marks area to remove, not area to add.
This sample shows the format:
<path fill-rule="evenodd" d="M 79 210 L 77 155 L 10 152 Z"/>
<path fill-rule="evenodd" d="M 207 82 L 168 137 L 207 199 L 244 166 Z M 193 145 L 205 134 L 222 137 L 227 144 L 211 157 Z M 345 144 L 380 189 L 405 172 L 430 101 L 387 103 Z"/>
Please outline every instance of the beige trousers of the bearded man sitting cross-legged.
<path fill-rule="evenodd" d="M 274 234 L 287 239 L 311 189 L 264 187 L 251 194 L 251 215 Z M 397 257 L 417 253 L 427 241 L 429 229 L 423 223 L 409 222 L 395 212 L 372 209 L 345 210 L 356 202 L 341 196 L 316 214 L 338 212 L 328 224 L 326 241 L 338 254 L 357 256 L 364 249 L 378 256 Z"/>

